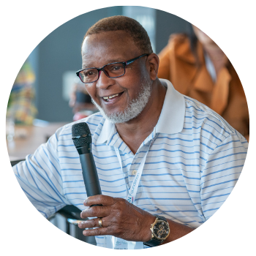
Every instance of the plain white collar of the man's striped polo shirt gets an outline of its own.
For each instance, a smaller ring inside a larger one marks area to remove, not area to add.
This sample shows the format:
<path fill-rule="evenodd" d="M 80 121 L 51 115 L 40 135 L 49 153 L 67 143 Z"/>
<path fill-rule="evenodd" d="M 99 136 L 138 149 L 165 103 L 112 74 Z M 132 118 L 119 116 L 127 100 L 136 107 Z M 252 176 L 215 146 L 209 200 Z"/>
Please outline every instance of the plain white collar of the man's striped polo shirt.
<path fill-rule="evenodd" d="M 172 83 L 166 79 L 159 79 L 163 86 L 167 88 L 165 101 L 159 120 L 155 127 L 156 133 L 175 134 L 181 132 L 184 126 L 185 99 L 173 88 Z M 98 144 L 108 143 L 116 133 L 116 125 L 105 120 L 102 131 L 97 139 Z"/>

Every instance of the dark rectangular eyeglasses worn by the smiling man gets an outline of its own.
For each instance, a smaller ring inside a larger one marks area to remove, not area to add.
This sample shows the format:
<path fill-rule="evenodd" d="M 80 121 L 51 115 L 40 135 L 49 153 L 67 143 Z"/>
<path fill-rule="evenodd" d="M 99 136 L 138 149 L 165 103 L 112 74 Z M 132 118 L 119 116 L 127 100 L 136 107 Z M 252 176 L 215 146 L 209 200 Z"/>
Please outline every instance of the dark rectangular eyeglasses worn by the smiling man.
<path fill-rule="evenodd" d="M 80 69 L 78 72 L 75 72 L 77 76 L 83 83 L 93 83 L 99 79 L 100 71 L 103 71 L 108 78 L 119 78 L 125 74 L 125 67 L 131 64 L 136 59 L 140 59 L 143 56 L 148 56 L 149 54 L 143 54 L 138 56 L 135 59 L 130 59 L 129 61 L 124 62 L 113 62 L 106 64 L 101 68 L 89 67 L 88 69 Z"/>

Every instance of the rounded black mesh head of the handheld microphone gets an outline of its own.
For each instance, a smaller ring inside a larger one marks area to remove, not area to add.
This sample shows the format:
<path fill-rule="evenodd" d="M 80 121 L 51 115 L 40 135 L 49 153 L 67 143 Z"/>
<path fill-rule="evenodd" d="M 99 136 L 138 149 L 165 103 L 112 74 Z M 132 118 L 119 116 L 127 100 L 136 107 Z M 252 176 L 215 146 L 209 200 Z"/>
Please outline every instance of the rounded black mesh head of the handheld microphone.
<path fill-rule="evenodd" d="M 85 122 L 72 125 L 72 140 L 76 148 L 91 143 L 91 131 Z"/>

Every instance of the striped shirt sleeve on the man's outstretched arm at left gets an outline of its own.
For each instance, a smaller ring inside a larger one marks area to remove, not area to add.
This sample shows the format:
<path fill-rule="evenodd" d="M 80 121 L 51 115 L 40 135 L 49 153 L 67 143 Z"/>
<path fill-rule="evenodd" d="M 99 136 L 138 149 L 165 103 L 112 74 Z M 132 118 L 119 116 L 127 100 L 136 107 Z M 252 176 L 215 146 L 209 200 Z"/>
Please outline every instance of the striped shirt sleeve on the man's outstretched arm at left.
<path fill-rule="evenodd" d="M 58 135 L 52 135 L 47 143 L 37 148 L 34 154 L 12 167 L 15 178 L 34 208 L 48 218 L 66 206 L 58 157 Z"/>

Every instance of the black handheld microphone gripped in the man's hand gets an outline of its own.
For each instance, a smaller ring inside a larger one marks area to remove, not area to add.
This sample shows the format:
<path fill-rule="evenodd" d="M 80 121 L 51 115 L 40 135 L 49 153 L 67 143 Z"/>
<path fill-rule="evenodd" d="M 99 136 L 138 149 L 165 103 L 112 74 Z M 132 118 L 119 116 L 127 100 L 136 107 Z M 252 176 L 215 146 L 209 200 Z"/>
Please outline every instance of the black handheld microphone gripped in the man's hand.
<path fill-rule="evenodd" d="M 102 195 L 99 185 L 99 177 L 91 153 L 91 132 L 88 124 L 81 122 L 72 125 L 72 140 L 78 150 L 80 163 L 82 165 L 83 181 L 86 185 L 88 197 L 91 195 Z M 93 205 L 97 206 L 97 205 Z"/>

